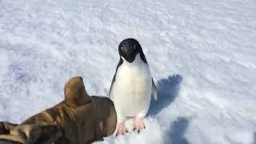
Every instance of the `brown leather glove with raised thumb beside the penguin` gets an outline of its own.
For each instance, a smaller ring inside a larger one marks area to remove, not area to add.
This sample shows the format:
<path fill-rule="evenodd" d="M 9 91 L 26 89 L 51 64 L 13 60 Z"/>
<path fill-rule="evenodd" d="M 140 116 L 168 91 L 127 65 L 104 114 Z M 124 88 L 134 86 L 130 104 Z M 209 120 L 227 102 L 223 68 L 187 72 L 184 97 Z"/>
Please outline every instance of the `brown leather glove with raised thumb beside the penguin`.
<path fill-rule="evenodd" d="M 85 144 L 114 133 L 117 117 L 110 98 L 90 97 L 81 77 L 71 78 L 64 92 L 63 102 L 18 126 L 3 122 L 6 134 L 0 134 L 0 142 Z"/>

